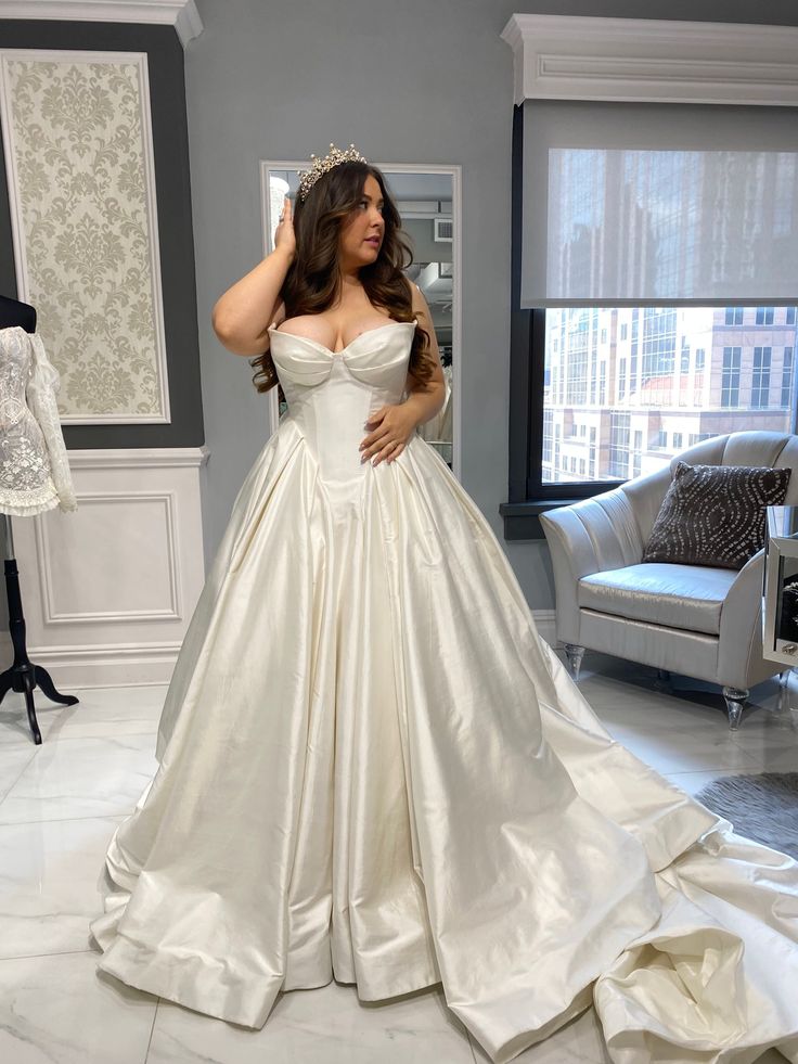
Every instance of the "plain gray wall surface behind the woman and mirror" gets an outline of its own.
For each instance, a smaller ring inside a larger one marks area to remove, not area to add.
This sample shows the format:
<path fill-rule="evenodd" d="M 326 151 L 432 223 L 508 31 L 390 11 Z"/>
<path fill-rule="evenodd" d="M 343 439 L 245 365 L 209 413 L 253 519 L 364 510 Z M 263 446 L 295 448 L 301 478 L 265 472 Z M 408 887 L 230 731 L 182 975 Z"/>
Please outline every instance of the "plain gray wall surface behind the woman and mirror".
<path fill-rule="evenodd" d="M 545 544 L 504 543 L 510 345 L 513 53 L 516 11 L 798 24 L 794 0 L 197 0 L 185 55 L 206 441 L 208 560 L 267 439 L 246 359 L 210 328 L 216 298 L 261 257 L 258 161 L 308 159 L 353 141 L 383 162 L 463 167 L 462 482 L 532 608 L 554 604 Z"/>

